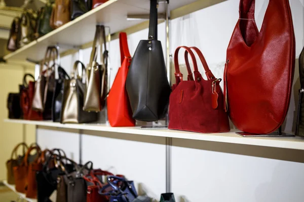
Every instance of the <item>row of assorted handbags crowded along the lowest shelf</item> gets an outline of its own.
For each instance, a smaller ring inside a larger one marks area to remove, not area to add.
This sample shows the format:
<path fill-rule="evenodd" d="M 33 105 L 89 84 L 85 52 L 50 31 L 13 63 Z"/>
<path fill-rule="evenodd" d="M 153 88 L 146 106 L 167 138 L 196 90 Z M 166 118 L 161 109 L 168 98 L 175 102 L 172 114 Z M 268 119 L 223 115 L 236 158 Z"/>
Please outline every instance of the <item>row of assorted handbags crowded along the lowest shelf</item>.
<path fill-rule="evenodd" d="M 17 157 L 17 149 L 23 155 Z M 30 155 L 35 150 L 34 155 Z M 15 156 L 14 156 L 15 155 Z M 38 202 L 150 202 L 148 196 L 138 196 L 133 181 L 123 175 L 93 169 L 93 163 L 80 165 L 66 158 L 62 149 L 41 150 L 37 144 L 19 143 L 7 161 L 7 179 L 16 191 Z M 161 201 L 175 201 L 172 193 L 161 195 Z"/>

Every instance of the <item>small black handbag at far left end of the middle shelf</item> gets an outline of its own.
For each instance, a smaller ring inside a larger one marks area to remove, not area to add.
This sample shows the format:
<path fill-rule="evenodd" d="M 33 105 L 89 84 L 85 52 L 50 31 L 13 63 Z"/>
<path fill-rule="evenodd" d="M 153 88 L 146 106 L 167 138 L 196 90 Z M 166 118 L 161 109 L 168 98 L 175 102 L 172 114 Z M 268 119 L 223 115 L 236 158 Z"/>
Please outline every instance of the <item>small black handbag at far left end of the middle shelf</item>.
<path fill-rule="evenodd" d="M 9 119 L 20 119 L 22 117 L 20 107 L 20 93 L 9 93 L 7 99 Z"/>

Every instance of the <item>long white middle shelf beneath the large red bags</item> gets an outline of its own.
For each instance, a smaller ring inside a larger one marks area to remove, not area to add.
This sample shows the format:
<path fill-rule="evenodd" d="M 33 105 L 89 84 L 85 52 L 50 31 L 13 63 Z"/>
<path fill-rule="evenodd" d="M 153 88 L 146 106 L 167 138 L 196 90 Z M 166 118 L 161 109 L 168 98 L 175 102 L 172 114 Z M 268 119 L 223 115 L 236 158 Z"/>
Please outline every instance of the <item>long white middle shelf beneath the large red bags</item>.
<path fill-rule="evenodd" d="M 5 122 L 304 150 L 304 139 L 300 137 L 242 137 L 236 134 L 236 132 L 195 133 L 169 129 L 150 130 L 140 129 L 140 127 L 111 127 L 106 124 L 61 124 L 51 121 L 27 121 L 18 119 L 5 119 Z"/>

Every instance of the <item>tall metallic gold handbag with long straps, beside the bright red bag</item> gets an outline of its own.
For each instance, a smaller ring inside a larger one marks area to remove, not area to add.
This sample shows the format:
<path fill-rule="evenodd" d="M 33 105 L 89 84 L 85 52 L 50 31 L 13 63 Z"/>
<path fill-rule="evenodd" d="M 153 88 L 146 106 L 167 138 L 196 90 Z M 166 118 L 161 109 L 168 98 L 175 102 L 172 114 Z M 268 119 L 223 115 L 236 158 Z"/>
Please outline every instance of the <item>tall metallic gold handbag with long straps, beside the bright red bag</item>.
<path fill-rule="evenodd" d="M 102 45 L 104 52 L 102 52 Z M 96 62 L 100 46 L 100 64 Z M 96 25 L 96 32 L 90 62 L 87 67 L 87 89 L 84 98 L 84 110 L 100 112 L 105 106 L 107 95 L 107 58 L 105 30 L 103 25 Z"/>

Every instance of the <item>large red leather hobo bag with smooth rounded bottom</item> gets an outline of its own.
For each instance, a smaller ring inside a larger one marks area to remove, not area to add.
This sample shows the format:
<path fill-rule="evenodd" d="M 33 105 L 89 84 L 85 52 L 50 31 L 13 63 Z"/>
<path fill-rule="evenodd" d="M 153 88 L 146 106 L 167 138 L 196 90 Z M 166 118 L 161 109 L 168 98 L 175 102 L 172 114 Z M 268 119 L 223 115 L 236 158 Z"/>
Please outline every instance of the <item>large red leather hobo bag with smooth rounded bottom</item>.
<path fill-rule="evenodd" d="M 227 48 L 224 94 L 234 125 L 268 134 L 286 117 L 292 90 L 295 38 L 288 0 L 270 0 L 260 32 L 255 0 L 240 1 L 240 19 Z"/>

